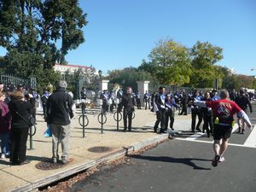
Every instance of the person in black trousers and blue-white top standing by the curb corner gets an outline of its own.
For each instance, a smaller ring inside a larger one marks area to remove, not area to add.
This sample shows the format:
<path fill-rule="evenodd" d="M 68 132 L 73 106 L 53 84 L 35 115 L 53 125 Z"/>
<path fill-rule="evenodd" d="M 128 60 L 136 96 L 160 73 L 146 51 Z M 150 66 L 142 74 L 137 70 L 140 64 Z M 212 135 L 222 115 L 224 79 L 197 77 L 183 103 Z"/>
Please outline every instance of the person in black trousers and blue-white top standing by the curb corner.
<path fill-rule="evenodd" d="M 157 132 L 158 125 L 160 124 L 160 133 L 164 133 L 166 130 L 166 88 L 164 86 L 160 86 L 159 93 L 154 96 L 154 103 L 156 106 L 154 132 Z"/>

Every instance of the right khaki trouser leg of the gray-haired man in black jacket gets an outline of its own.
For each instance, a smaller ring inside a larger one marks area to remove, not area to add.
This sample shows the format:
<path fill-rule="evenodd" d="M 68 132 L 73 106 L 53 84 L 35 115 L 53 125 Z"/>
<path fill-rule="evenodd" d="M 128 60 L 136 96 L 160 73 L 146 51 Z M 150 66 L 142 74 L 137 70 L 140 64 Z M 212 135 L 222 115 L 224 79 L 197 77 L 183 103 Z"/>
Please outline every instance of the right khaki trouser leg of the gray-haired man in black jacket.
<path fill-rule="evenodd" d="M 68 148 L 69 148 L 69 137 L 70 137 L 70 125 L 61 125 L 61 148 L 62 155 L 61 161 L 63 164 L 68 161 Z"/>

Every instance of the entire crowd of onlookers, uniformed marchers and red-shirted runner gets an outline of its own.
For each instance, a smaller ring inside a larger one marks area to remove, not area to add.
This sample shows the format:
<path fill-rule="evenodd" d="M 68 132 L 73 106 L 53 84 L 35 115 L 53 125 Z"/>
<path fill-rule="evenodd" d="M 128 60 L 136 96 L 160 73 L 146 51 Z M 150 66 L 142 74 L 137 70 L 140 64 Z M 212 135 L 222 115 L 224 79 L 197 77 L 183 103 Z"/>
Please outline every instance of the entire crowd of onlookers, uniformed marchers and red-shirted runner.
<path fill-rule="evenodd" d="M 70 119 L 74 115 L 73 96 L 66 90 L 65 81 L 57 82 L 55 87 L 53 93 L 45 89 L 40 99 L 44 109 L 44 120 L 52 131 L 52 162 L 66 164 L 69 156 Z M 81 99 L 86 99 L 86 91 L 85 88 L 81 90 Z M 29 163 L 29 160 L 26 160 L 26 141 L 30 125 L 24 119 L 29 119 L 31 115 L 36 116 L 38 97 L 34 90 L 26 90 L 21 84 L 16 88 L 9 88 L 0 82 L 1 158 L 9 157 L 12 165 Z M 204 93 L 200 90 L 189 93 L 180 90 L 172 93 L 166 92 L 166 88 L 160 86 L 157 92 L 150 94 L 145 91 L 142 96 L 139 91 L 133 93 L 131 87 L 127 87 L 124 92 L 122 89 L 111 92 L 103 90 L 99 98 L 102 99 L 104 113 L 113 112 L 113 108 L 123 112 L 124 131 L 132 130 L 132 113 L 136 106 L 137 109 L 142 109 L 142 102 L 145 110 L 149 109 L 156 114 L 156 133 L 174 131 L 175 108 L 179 110 L 179 115 L 188 115 L 191 112 L 191 131 L 206 131 L 207 137 L 212 136 L 214 139 L 215 156 L 212 166 L 217 166 L 219 161 L 224 160 L 223 154 L 234 125 L 234 114 L 237 113 L 238 132 L 244 133 L 246 125 L 251 127 L 247 113 L 248 108 L 251 113 L 253 112 L 250 102 L 253 96 L 242 89 L 238 94 L 234 90 L 230 93 L 222 90 L 218 94 L 214 89 Z M 115 102 L 116 99 L 119 99 L 118 103 Z M 62 148 L 61 157 L 59 144 Z"/>

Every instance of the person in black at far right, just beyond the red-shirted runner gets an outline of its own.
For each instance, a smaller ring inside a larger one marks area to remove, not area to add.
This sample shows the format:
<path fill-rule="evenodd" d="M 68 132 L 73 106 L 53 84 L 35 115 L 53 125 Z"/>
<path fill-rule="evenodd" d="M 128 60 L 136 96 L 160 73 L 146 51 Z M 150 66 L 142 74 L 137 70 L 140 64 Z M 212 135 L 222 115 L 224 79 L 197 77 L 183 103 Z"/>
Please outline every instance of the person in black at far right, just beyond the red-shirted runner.
<path fill-rule="evenodd" d="M 249 106 L 250 112 L 253 113 L 252 104 L 251 104 L 248 96 L 245 95 L 243 90 L 239 90 L 239 96 L 236 97 L 235 102 L 245 113 L 247 113 L 247 106 Z M 237 116 L 237 124 L 238 124 L 237 132 L 244 134 L 245 122 L 243 121 L 243 119 L 241 119 L 238 116 Z"/>

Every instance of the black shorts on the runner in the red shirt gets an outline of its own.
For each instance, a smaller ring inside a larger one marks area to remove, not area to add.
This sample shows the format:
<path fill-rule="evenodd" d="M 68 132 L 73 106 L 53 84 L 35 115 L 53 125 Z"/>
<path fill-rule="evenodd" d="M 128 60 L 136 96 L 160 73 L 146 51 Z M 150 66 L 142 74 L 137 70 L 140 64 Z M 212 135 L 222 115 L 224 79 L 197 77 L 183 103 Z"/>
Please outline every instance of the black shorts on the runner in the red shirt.
<path fill-rule="evenodd" d="M 220 140 L 230 138 L 232 133 L 232 125 L 218 125 L 214 124 L 213 138 L 214 140 Z"/>

